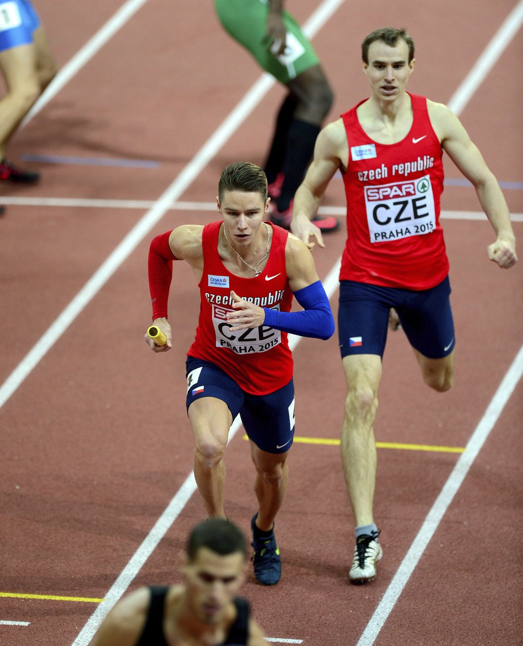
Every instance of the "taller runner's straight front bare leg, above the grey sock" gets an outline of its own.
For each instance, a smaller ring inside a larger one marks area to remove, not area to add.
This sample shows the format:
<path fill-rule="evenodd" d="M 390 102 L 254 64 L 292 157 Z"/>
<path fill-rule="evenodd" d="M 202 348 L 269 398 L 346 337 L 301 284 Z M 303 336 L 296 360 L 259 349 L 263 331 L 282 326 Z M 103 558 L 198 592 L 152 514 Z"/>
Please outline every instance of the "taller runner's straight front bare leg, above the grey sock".
<path fill-rule="evenodd" d="M 376 479 L 376 444 L 373 422 L 378 408 L 381 379 L 379 355 L 343 358 L 347 380 L 341 457 L 355 525 L 370 525 Z"/>

